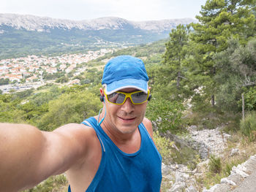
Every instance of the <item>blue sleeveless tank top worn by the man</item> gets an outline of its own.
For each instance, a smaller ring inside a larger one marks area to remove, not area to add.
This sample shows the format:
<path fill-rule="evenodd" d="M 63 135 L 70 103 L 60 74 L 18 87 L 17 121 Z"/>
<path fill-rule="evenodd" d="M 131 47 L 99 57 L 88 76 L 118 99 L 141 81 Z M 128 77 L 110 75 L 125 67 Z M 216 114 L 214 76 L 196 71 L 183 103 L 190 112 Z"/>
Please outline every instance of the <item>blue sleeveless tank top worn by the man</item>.
<path fill-rule="evenodd" d="M 124 153 L 105 134 L 93 117 L 83 121 L 97 133 L 102 146 L 99 169 L 86 192 L 159 192 L 162 157 L 143 123 L 138 126 L 140 150 Z M 70 186 L 69 186 L 69 192 Z"/>

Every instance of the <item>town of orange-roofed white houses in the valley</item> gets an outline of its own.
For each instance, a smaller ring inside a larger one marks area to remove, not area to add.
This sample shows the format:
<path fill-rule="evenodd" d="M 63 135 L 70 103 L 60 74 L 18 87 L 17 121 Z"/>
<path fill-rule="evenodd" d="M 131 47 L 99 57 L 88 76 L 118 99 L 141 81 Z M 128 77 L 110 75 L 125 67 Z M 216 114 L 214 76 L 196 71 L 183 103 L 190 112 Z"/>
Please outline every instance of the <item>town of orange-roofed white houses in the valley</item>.
<path fill-rule="evenodd" d="M 29 88 L 38 88 L 48 82 L 45 74 L 64 72 L 78 76 L 86 71 L 86 63 L 102 57 L 106 53 L 113 53 L 113 49 L 87 51 L 86 53 L 65 54 L 48 57 L 44 55 L 28 55 L 23 58 L 7 58 L 0 60 L 0 90 L 2 93 L 24 91 Z M 4 80 L 7 83 L 3 83 Z M 80 80 L 69 80 L 67 85 L 80 84 Z"/>

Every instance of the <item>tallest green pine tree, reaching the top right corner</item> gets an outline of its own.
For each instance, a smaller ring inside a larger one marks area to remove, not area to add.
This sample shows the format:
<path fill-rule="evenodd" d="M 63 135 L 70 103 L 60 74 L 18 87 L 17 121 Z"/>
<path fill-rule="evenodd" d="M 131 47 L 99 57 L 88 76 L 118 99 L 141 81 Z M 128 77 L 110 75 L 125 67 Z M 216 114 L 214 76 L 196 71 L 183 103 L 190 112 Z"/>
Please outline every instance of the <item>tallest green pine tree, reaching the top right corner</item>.
<path fill-rule="evenodd" d="M 192 41 L 197 43 L 200 60 L 197 61 L 201 72 L 210 77 L 207 82 L 214 105 L 217 84 L 214 76 L 219 69 L 214 66 L 214 53 L 227 49 L 227 40 L 234 37 L 242 45 L 255 36 L 255 0 L 207 0 L 202 6 L 199 23 L 192 23 L 195 32 Z"/>

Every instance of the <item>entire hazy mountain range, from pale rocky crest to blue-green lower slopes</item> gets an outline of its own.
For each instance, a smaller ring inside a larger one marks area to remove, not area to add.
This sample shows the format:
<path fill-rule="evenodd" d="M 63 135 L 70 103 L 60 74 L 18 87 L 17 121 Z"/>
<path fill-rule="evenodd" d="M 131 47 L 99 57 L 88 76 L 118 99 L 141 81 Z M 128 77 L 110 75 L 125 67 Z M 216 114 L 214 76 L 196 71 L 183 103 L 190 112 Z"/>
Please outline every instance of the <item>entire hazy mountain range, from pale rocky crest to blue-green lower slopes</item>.
<path fill-rule="evenodd" d="M 0 14 L 0 58 L 13 54 L 67 52 L 138 45 L 168 37 L 190 18 L 129 21 L 122 18 L 63 20 L 33 15 Z"/>

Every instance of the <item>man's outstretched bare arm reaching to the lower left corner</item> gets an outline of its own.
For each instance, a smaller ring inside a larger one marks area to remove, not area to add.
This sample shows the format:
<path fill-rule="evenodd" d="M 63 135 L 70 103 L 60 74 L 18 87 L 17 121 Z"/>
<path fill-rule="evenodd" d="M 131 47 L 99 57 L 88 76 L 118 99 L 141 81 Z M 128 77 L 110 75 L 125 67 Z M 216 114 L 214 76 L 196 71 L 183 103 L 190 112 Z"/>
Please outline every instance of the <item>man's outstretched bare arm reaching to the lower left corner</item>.
<path fill-rule="evenodd" d="M 1 190 L 31 188 L 50 175 L 65 172 L 86 154 L 89 134 L 89 129 L 75 123 L 53 132 L 0 123 Z"/>

